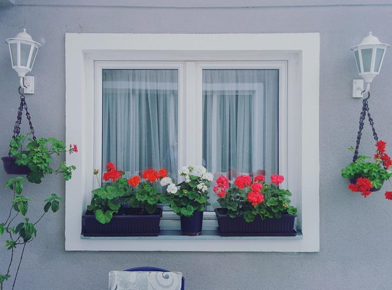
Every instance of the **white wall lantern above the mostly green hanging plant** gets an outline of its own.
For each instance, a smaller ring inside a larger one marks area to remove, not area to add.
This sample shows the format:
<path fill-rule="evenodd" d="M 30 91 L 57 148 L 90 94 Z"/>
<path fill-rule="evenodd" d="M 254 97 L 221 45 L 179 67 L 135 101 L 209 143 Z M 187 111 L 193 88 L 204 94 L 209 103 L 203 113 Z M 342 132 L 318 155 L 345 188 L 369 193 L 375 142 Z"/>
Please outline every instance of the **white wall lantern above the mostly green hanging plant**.
<path fill-rule="evenodd" d="M 15 38 L 6 39 L 10 48 L 12 68 L 20 77 L 21 87 L 25 87 L 23 78 L 30 72 L 34 65 L 34 60 L 41 44 L 34 41 L 30 34 L 23 29 Z"/>

